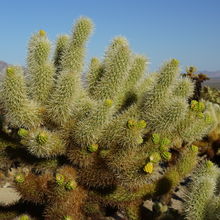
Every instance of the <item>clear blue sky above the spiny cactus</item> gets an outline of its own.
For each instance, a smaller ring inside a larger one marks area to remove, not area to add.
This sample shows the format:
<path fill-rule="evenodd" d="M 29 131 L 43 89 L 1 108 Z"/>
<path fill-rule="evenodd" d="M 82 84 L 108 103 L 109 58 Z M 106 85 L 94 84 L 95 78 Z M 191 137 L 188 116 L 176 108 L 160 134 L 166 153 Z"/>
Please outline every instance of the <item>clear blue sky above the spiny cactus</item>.
<path fill-rule="evenodd" d="M 47 31 L 54 42 L 70 33 L 79 16 L 88 16 L 95 31 L 87 60 L 102 57 L 114 36 L 125 36 L 136 53 L 146 55 L 150 70 L 169 58 L 182 69 L 220 70 L 220 0 L 2 0 L 0 60 L 25 65 L 32 33 Z"/>

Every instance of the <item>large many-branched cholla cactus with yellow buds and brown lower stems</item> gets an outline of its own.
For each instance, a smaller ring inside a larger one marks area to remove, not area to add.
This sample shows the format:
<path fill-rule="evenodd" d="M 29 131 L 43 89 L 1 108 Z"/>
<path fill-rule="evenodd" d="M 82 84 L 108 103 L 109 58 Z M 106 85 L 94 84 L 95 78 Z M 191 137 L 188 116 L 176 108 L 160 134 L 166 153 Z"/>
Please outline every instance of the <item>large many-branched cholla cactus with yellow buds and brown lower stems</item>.
<path fill-rule="evenodd" d="M 29 172 L 15 176 L 15 187 L 23 201 L 43 206 L 46 220 L 98 219 L 106 206 L 139 220 L 143 198 L 172 192 L 191 172 L 192 141 L 214 123 L 203 102 L 188 104 L 193 83 L 181 78 L 176 59 L 146 75 L 147 58 L 121 36 L 102 61 L 92 58 L 83 87 L 92 29 L 90 19 L 78 19 L 52 60 L 41 30 L 29 43 L 27 77 L 21 67 L 6 70 L 0 152 L 22 152 L 13 159 Z"/>

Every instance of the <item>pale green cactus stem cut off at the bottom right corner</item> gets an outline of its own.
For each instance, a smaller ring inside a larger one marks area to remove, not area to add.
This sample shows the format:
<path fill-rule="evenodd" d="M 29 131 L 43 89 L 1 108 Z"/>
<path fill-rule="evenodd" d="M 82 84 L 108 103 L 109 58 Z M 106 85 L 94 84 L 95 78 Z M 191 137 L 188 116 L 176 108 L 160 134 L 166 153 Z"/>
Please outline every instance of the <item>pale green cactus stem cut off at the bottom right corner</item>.
<path fill-rule="evenodd" d="M 186 193 L 186 219 L 220 219 L 220 169 L 205 161 L 195 170 Z"/>

